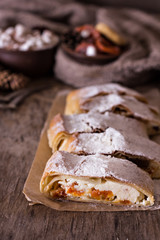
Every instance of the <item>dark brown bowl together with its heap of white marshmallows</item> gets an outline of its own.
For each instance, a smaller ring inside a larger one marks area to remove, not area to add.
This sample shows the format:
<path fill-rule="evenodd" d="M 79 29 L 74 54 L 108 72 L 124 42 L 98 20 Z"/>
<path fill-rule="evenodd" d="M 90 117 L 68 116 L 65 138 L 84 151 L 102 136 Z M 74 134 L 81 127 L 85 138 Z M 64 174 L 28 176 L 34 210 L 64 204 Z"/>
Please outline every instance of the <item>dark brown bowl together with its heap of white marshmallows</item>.
<path fill-rule="evenodd" d="M 28 76 L 51 71 L 59 38 L 48 29 L 29 29 L 22 24 L 0 28 L 0 62 Z"/>

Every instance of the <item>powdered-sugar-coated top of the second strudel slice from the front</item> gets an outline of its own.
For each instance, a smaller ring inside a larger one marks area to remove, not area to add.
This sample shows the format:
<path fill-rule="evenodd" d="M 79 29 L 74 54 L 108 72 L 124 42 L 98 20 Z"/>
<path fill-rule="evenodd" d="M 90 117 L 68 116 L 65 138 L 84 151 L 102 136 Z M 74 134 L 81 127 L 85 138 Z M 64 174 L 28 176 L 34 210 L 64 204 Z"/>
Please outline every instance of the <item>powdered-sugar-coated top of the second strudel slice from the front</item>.
<path fill-rule="evenodd" d="M 141 136 L 108 128 L 104 133 L 80 133 L 75 153 L 113 154 L 123 152 L 132 156 L 155 160 L 160 164 L 160 145 Z"/>

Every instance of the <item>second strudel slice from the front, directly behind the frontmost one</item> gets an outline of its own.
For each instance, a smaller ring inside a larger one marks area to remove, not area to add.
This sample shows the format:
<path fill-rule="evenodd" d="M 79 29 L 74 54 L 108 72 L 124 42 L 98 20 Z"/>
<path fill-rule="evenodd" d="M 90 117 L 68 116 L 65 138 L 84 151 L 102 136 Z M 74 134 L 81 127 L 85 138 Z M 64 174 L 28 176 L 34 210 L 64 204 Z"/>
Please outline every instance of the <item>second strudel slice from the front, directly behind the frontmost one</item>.
<path fill-rule="evenodd" d="M 62 141 L 56 150 L 127 158 L 147 171 L 152 178 L 160 178 L 160 145 L 111 127 L 103 133 L 72 134 Z"/>

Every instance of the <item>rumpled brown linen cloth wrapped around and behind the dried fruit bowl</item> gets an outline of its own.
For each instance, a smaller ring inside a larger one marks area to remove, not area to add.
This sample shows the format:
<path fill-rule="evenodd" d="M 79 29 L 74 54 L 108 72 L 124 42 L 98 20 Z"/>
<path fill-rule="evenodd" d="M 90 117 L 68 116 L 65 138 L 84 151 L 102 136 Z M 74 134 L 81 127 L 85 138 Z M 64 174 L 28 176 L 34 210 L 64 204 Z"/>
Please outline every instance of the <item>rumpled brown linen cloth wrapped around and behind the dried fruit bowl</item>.
<path fill-rule="evenodd" d="M 80 64 L 59 49 L 56 76 L 73 86 L 106 82 L 139 85 L 160 76 L 160 14 L 98 8 L 71 1 L 0 2 L 0 25 L 4 27 L 18 22 L 29 27 L 45 26 L 58 33 L 65 32 L 70 26 L 104 22 L 128 38 L 130 48 L 116 61 L 103 66 Z"/>

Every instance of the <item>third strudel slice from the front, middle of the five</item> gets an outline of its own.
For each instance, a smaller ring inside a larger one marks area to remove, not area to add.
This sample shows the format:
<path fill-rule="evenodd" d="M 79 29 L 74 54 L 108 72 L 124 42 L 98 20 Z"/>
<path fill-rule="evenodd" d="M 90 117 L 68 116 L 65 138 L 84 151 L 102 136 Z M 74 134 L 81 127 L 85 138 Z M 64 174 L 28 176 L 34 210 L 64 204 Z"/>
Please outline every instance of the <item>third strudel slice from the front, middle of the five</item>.
<path fill-rule="evenodd" d="M 54 152 L 57 150 L 57 146 L 73 133 L 104 132 L 108 127 L 148 138 L 145 124 L 111 112 L 105 114 L 98 112 L 73 115 L 57 114 L 52 119 L 48 130 L 49 146 Z"/>

